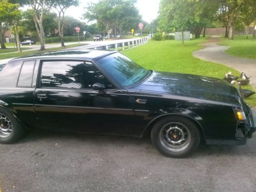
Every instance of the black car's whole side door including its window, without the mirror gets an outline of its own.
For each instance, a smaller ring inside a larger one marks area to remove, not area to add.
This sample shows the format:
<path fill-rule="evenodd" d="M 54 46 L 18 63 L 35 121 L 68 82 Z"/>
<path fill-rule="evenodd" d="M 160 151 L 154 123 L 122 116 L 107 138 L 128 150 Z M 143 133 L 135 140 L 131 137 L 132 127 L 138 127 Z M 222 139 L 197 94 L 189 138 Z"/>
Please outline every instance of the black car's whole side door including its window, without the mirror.
<path fill-rule="evenodd" d="M 117 89 L 90 61 L 45 60 L 35 90 L 35 112 L 47 129 L 132 135 L 134 110 L 126 90 Z M 93 84 L 104 84 L 94 90 Z"/>

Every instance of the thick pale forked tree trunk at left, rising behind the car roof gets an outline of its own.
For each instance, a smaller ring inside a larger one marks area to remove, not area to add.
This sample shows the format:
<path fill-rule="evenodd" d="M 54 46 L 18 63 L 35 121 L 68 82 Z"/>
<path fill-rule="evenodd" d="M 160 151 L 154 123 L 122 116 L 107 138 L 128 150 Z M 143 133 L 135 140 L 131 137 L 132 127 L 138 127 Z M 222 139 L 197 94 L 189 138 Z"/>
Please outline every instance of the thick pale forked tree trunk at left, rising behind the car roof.
<path fill-rule="evenodd" d="M 48 0 L 29 0 L 30 6 L 33 9 L 33 19 L 40 39 L 41 48 L 40 50 L 45 50 L 45 32 L 42 26 L 42 21 L 45 12 L 51 7 L 51 2 Z"/>

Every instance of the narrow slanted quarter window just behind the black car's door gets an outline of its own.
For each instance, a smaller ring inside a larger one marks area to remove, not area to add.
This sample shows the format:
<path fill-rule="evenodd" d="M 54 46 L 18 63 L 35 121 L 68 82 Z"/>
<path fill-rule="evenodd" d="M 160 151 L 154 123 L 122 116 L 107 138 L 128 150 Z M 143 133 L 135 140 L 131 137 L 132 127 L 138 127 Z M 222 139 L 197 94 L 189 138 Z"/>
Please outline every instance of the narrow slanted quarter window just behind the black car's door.
<path fill-rule="evenodd" d="M 32 87 L 35 60 L 23 62 L 20 70 L 17 87 Z"/>

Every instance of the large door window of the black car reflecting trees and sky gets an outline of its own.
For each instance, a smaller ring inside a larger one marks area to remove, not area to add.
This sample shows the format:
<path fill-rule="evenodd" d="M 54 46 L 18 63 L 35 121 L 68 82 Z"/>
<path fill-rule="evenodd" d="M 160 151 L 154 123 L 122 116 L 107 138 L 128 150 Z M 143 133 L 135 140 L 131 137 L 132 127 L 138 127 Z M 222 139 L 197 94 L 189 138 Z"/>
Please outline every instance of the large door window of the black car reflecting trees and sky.
<path fill-rule="evenodd" d="M 41 87 L 92 89 L 94 83 L 113 89 L 112 83 L 87 61 L 43 61 Z"/>

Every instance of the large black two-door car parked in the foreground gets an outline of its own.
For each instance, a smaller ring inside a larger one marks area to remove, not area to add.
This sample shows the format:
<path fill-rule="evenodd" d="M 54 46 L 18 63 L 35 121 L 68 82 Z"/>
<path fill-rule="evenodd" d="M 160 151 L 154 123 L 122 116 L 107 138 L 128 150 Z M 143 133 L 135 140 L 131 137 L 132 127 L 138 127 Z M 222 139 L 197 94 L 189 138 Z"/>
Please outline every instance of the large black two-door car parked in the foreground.
<path fill-rule="evenodd" d="M 226 81 L 146 70 L 116 51 L 69 50 L 0 67 L 0 142 L 27 127 L 143 137 L 165 156 L 206 144 L 245 144 L 249 106 Z"/>

